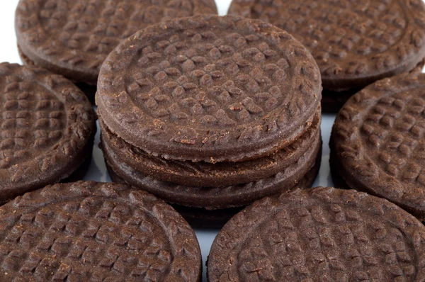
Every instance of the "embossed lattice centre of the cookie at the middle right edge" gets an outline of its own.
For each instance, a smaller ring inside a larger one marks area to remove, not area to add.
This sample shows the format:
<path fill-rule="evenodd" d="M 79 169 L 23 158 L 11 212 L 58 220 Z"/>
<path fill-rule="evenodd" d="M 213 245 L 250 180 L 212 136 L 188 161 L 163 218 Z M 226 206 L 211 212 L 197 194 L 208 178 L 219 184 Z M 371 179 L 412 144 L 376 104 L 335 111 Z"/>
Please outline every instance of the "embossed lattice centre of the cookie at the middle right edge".
<path fill-rule="evenodd" d="M 373 161 L 399 181 L 425 185 L 424 110 L 424 89 L 414 89 L 382 97 L 365 116 L 365 145 L 380 152 Z"/>

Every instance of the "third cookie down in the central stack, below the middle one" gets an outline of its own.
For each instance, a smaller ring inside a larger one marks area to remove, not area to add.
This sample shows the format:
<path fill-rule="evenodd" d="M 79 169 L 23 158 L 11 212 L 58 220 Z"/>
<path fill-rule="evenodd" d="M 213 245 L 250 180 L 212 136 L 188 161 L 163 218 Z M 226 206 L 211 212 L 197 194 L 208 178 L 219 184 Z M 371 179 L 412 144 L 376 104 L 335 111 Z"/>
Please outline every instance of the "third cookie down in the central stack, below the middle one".
<path fill-rule="evenodd" d="M 248 205 L 263 196 L 292 189 L 314 167 L 322 152 L 322 142 L 318 138 L 300 159 L 274 176 L 225 188 L 204 188 L 173 184 L 145 176 L 119 159 L 108 147 L 108 143 L 104 142 L 103 135 L 101 142 L 106 163 L 127 184 L 153 193 L 169 203 L 210 210 Z"/>

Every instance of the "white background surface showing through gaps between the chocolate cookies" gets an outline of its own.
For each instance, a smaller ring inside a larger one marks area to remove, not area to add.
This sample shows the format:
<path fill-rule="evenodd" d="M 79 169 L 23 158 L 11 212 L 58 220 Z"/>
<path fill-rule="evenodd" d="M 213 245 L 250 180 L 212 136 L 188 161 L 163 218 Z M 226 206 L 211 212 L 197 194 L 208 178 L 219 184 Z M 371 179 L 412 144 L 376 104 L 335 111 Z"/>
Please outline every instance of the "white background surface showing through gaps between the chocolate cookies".
<path fill-rule="evenodd" d="M 16 49 L 16 35 L 14 30 L 14 14 L 18 0 L 0 0 L 0 62 L 18 62 L 21 63 L 21 59 L 18 56 L 18 50 Z M 230 3 L 230 0 L 216 0 L 220 15 L 225 15 Z M 323 136 L 323 156 L 322 156 L 322 167 L 314 186 L 332 186 L 331 176 L 329 174 L 329 135 L 331 131 L 332 123 L 334 122 L 335 115 L 323 115 L 322 117 L 322 136 Z M 98 132 L 99 133 L 99 132 Z M 107 172 L 105 163 L 103 162 L 103 156 L 101 150 L 98 148 L 98 134 L 96 135 L 96 142 L 93 152 L 93 161 L 89 173 L 86 175 L 84 180 L 95 180 L 95 181 L 111 181 Z M 203 270 L 204 280 L 205 278 L 205 261 L 210 251 L 212 240 L 215 238 L 218 230 L 199 230 L 196 229 L 196 235 L 198 236 L 200 248 L 203 255 Z"/>

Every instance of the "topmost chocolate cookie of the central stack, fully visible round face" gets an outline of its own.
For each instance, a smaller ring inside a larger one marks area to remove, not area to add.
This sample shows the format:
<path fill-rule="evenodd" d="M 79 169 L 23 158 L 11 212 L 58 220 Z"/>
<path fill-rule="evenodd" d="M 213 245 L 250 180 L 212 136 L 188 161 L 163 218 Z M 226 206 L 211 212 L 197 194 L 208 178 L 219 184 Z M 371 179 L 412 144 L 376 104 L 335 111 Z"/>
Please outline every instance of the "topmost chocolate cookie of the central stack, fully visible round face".
<path fill-rule="evenodd" d="M 101 67 L 96 103 L 115 135 L 154 156 L 242 162 L 278 152 L 321 98 L 310 52 L 271 24 L 194 16 L 132 35 Z"/>

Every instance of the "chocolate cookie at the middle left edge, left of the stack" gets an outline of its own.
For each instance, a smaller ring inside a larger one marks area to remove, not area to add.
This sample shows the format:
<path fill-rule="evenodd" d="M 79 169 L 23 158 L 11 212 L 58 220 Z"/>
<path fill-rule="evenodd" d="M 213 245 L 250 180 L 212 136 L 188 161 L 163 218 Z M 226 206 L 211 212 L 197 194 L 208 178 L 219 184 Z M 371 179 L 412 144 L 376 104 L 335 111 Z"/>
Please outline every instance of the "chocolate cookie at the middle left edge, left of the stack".
<path fill-rule="evenodd" d="M 77 86 L 45 69 L 0 63 L 0 91 L 0 203 L 85 173 L 96 113 Z"/>

